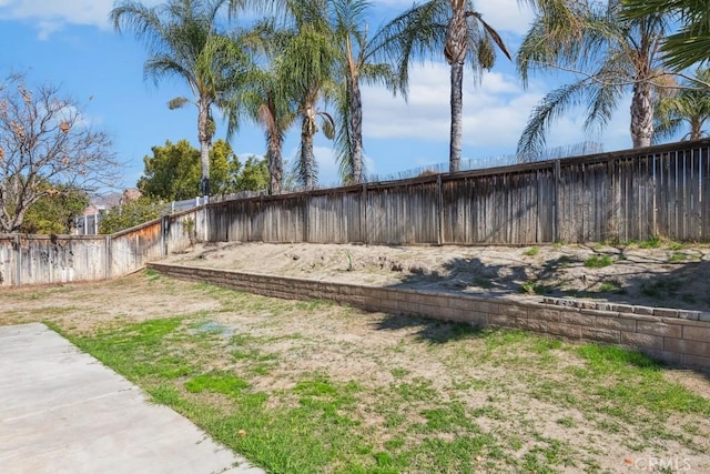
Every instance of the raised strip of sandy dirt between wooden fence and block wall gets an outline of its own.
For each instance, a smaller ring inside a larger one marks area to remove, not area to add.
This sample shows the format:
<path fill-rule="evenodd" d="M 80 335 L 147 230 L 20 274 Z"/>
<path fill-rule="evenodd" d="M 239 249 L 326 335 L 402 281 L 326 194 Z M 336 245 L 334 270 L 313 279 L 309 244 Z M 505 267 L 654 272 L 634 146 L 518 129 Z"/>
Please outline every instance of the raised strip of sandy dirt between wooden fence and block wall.
<path fill-rule="evenodd" d="M 710 311 L 710 246 L 209 243 L 168 262 L 322 281 Z"/>

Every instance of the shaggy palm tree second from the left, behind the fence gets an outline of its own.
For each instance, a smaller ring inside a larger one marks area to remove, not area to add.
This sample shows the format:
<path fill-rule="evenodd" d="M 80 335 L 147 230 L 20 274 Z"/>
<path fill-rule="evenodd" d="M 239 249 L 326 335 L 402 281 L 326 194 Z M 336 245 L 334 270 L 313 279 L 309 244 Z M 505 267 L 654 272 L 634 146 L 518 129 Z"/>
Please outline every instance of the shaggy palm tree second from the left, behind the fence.
<path fill-rule="evenodd" d="M 266 134 L 266 159 L 268 163 L 270 194 L 280 194 L 283 184 L 283 143 L 286 130 L 297 118 L 297 107 L 286 94 L 285 80 L 277 68 L 281 51 L 291 36 L 277 30 L 273 20 L 257 22 L 237 40 L 255 57 L 258 64 L 248 74 L 244 88 L 231 108 L 230 124 L 234 115 L 244 111 L 264 128 Z"/>

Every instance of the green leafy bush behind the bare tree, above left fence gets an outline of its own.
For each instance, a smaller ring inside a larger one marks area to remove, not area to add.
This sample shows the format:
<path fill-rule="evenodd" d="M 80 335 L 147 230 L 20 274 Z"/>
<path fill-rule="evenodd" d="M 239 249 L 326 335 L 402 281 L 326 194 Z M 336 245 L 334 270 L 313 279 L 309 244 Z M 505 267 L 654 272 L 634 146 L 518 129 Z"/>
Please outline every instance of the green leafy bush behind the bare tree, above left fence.
<path fill-rule="evenodd" d="M 43 196 L 24 215 L 20 232 L 28 234 L 70 234 L 74 221 L 89 205 L 85 191 L 71 185 L 44 183 Z"/>

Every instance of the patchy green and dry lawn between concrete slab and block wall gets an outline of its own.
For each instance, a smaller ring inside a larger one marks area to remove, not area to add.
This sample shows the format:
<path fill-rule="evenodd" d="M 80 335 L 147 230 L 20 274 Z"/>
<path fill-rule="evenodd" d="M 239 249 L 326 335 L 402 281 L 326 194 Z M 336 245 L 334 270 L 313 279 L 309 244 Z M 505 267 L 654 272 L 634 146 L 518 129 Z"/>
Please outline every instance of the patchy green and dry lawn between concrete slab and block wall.
<path fill-rule="evenodd" d="M 0 307 L 270 472 L 710 471 L 707 375 L 621 349 L 152 271 L 2 290 Z"/>

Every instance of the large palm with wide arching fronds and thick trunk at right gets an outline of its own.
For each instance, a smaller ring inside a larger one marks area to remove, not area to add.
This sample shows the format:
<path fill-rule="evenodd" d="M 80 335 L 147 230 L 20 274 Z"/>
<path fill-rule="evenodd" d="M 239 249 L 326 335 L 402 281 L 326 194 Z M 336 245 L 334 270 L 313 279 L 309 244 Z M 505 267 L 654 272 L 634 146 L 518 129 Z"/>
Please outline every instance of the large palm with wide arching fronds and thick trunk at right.
<path fill-rule="evenodd" d="M 518 141 L 519 159 L 535 160 L 551 122 L 571 107 L 587 104 L 585 128 L 605 125 L 629 89 L 632 143 L 648 147 L 658 85 L 669 82 L 660 58 L 666 18 L 622 19 L 620 0 L 608 6 L 587 0 L 528 3 L 539 13 L 517 56 L 524 82 L 531 71 L 549 69 L 571 71 L 580 79 L 549 92 L 532 110 Z"/>

